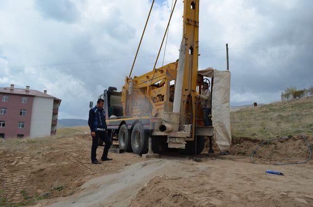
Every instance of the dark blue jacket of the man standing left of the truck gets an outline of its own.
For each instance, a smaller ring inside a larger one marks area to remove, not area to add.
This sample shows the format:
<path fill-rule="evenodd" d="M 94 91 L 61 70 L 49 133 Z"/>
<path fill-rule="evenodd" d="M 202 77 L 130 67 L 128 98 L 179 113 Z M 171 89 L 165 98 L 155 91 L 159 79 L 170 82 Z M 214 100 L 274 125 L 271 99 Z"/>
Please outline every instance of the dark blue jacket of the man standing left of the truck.
<path fill-rule="evenodd" d="M 97 106 L 89 110 L 88 125 L 91 131 L 97 131 L 97 128 L 107 129 L 106 117 L 103 108 Z"/>

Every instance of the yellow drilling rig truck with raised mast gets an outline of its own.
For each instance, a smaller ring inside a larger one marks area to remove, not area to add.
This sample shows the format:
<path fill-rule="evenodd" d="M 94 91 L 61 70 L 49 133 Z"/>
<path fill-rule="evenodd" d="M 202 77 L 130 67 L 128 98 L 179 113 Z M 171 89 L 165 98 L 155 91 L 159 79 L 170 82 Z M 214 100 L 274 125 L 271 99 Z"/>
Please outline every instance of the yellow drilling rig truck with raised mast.
<path fill-rule="evenodd" d="M 214 135 L 213 126 L 204 126 L 197 98 L 202 83 L 209 81 L 206 77 L 211 79 L 211 92 L 215 93 L 215 70 L 198 71 L 199 0 L 183 0 L 183 5 L 179 59 L 140 76 L 130 75 L 121 92 L 109 87 L 99 97 L 105 101 L 109 136 L 118 140 L 120 149 L 147 153 L 152 137 L 155 152 L 168 147 L 199 154 L 205 136 Z"/>

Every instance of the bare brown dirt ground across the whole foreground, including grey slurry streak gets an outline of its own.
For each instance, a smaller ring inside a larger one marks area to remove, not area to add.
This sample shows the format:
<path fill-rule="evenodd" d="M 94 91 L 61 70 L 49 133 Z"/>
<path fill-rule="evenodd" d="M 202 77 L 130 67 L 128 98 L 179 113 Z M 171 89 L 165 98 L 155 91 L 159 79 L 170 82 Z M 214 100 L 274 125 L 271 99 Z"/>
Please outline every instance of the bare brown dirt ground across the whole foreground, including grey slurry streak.
<path fill-rule="evenodd" d="M 312 160 L 268 165 L 306 160 L 303 139 L 262 145 L 256 165 L 249 155 L 259 142 L 236 139 L 227 156 L 207 155 L 206 148 L 200 162 L 178 152 L 153 160 L 110 153 L 113 161 L 91 165 L 89 135 L 6 141 L 0 144 L 0 206 L 313 206 Z"/>

